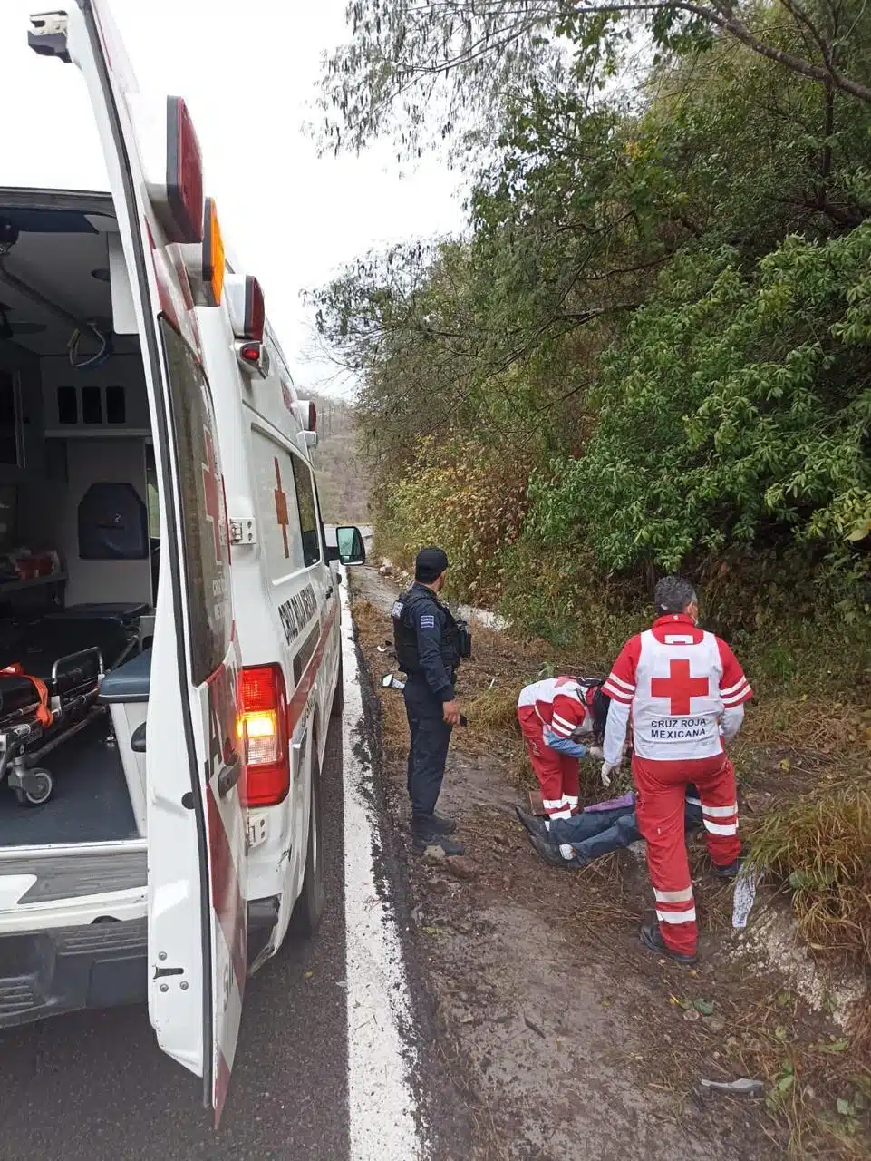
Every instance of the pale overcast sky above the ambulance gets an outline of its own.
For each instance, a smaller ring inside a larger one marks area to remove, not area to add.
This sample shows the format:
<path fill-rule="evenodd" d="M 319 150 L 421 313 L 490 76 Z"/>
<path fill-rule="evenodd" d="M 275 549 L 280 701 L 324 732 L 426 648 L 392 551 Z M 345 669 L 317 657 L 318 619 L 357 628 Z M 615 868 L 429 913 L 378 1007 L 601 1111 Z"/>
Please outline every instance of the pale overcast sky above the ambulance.
<path fill-rule="evenodd" d="M 456 175 L 423 163 L 402 176 L 387 145 L 318 159 L 300 131 L 313 115 L 320 57 L 346 38 L 346 0 L 112 0 L 143 91 L 183 96 L 205 161 L 206 193 L 302 388 L 347 394 L 312 362 L 299 293 L 371 246 L 456 231 Z M 0 183 L 107 189 L 78 71 L 27 46 L 45 0 L 0 0 Z M 252 157 L 260 158 L 253 160 Z"/>

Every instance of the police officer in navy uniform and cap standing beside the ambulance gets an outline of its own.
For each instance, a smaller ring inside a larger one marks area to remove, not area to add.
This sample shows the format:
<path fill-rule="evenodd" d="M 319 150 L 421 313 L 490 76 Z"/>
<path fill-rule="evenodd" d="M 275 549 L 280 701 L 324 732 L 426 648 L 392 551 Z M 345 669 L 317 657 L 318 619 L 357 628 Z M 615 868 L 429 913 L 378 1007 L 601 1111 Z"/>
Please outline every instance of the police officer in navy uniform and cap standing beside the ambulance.
<path fill-rule="evenodd" d="M 456 822 L 435 813 L 444 778 L 451 730 L 460 722 L 453 683 L 460 658 L 469 656 L 469 635 L 438 593 L 448 556 L 441 548 L 422 548 L 414 562 L 414 584 L 393 606 L 393 640 L 400 669 L 408 675 L 405 711 L 412 744 L 408 751 L 408 796 L 416 850 L 441 846 L 463 854 L 450 838 Z"/>

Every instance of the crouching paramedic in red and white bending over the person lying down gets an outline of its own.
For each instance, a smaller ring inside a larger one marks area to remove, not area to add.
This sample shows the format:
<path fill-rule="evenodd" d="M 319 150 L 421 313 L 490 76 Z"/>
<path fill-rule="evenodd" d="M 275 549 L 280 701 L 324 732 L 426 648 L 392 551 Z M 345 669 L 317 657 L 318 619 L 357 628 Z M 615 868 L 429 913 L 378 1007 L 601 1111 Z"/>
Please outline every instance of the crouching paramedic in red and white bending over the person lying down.
<path fill-rule="evenodd" d="M 580 741 L 593 741 L 597 693 L 598 683 L 575 677 L 550 677 L 521 690 L 517 721 L 542 788 L 546 825 L 578 813 L 578 759 L 602 757 L 597 747 Z M 607 713 L 607 701 L 601 698 L 600 712 Z M 572 859 L 575 852 L 561 843 L 560 853 Z"/>

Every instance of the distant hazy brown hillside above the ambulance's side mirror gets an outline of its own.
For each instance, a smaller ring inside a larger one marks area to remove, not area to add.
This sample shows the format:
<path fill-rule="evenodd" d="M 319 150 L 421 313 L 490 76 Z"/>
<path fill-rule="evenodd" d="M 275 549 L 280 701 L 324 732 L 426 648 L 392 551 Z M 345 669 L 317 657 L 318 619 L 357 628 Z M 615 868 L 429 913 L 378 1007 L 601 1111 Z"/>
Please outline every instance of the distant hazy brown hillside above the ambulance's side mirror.
<path fill-rule="evenodd" d="M 368 524 L 369 475 L 357 454 L 354 408 L 343 399 L 312 398 L 320 433 L 314 463 L 324 521 Z"/>

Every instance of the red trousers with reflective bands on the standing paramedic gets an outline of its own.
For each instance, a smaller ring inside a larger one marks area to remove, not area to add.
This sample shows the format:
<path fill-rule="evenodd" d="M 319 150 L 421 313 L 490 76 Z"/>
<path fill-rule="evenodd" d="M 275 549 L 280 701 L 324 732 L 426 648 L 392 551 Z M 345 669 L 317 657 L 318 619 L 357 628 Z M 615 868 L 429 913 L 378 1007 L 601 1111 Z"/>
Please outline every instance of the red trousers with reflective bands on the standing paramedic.
<path fill-rule="evenodd" d="M 698 930 L 683 832 L 687 784 L 698 787 L 711 860 L 728 866 L 741 853 L 734 767 L 725 753 L 688 762 L 653 762 L 633 755 L 632 776 L 662 938 L 675 951 L 692 954 Z"/>

